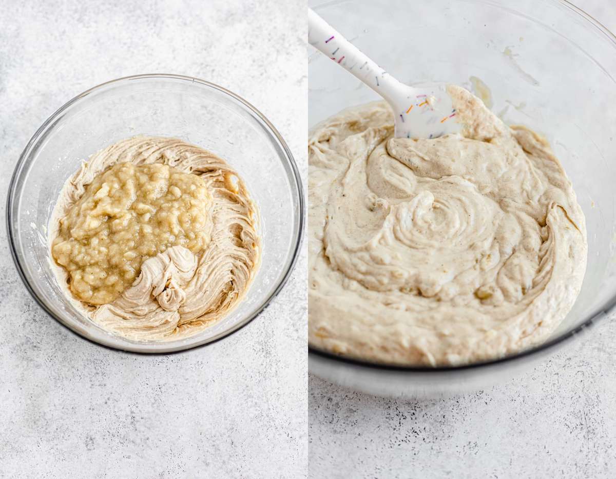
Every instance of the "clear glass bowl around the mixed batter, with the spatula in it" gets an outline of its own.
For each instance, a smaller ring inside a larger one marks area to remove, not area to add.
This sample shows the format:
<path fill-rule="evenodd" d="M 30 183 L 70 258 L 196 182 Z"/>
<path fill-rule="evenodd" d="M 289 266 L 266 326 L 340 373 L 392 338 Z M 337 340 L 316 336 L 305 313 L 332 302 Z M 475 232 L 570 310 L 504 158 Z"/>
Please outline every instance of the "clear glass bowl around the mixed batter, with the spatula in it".
<path fill-rule="evenodd" d="M 532 367 L 611 312 L 616 302 L 614 35 L 564 0 L 342 0 L 315 11 L 403 83 L 466 86 L 506 123 L 544 134 L 586 215 L 589 252 L 577 302 L 539 347 L 487 363 L 435 369 L 368 363 L 310 347 L 310 371 L 378 395 L 452 395 Z M 351 74 L 309 50 L 311 127 L 377 99 Z"/>

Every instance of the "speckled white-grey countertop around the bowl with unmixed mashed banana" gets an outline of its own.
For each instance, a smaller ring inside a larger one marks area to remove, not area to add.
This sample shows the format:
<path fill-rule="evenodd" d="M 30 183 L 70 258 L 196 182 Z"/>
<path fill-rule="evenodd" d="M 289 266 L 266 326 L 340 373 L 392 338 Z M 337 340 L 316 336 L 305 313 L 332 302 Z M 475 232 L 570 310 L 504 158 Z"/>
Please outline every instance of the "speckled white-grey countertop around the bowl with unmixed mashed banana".
<path fill-rule="evenodd" d="M 301 1 L 0 0 L 0 208 L 47 116 L 139 73 L 197 76 L 261 110 L 305 172 Z M 271 63 L 268 63 L 271 62 Z M 80 339 L 28 296 L 0 225 L 0 477 L 306 475 L 306 267 L 233 336 L 172 356 Z"/>

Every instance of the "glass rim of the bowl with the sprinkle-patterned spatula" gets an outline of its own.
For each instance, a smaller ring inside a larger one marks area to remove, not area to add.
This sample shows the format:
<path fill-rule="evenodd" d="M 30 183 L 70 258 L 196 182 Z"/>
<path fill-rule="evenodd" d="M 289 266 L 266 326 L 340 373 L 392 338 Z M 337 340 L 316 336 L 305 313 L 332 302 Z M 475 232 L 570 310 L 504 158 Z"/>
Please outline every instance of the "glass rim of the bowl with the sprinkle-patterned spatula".
<path fill-rule="evenodd" d="M 315 10 L 335 6 L 338 4 L 346 3 L 352 0 L 330 0 L 324 1 L 313 8 Z M 495 6 L 503 6 L 503 2 L 498 2 L 494 0 L 477 0 L 479 2 L 495 5 Z M 588 26 L 592 26 L 600 33 L 602 33 L 608 41 L 612 43 L 612 46 L 616 47 L 616 35 L 612 33 L 605 25 L 603 25 L 599 20 L 594 18 L 592 15 L 586 13 L 584 10 L 580 9 L 573 5 L 568 0 L 543 0 L 545 2 L 554 4 L 559 7 L 564 7 L 565 9 L 570 10 L 573 14 L 578 15 L 583 20 L 588 22 Z M 554 339 L 548 340 L 546 342 L 541 343 L 538 346 L 533 348 L 529 348 L 526 350 L 522 350 L 521 352 L 515 353 L 509 356 L 503 356 L 501 358 L 496 358 L 495 360 L 488 361 L 479 361 L 477 363 L 470 364 L 460 364 L 459 366 L 406 366 L 405 364 L 392 364 L 392 363 L 377 363 L 375 361 L 363 360 L 361 358 L 356 358 L 354 356 L 344 356 L 338 355 L 336 353 L 331 353 L 329 351 L 320 349 L 310 344 L 310 340 L 308 342 L 308 354 L 319 356 L 325 360 L 334 361 L 336 363 L 344 363 L 348 366 L 355 366 L 355 368 L 362 369 L 367 368 L 369 370 L 380 370 L 380 371 L 389 371 L 389 372 L 410 372 L 410 373 L 421 373 L 421 374 L 432 374 L 437 376 L 438 374 L 448 374 L 452 371 L 468 371 L 468 372 L 479 372 L 485 370 L 487 368 L 498 366 L 499 364 L 505 363 L 513 363 L 521 360 L 527 360 L 537 356 L 545 356 L 546 353 L 553 353 L 557 350 L 560 345 L 565 344 L 566 342 L 570 342 L 574 337 L 580 336 L 580 334 L 585 334 L 588 329 L 594 326 L 599 321 L 606 318 L 610 313 L 613 313 L 616 308 L 616 294 L 612 296 L 607 302 L 603 305 L 603 307 L 599 307 L 593 314 L 590 315 L 588 319 L 583 321 L 582 323 L 575 326 L 575 328 L 570 329 L 569 331 L 565 331 Z"/>

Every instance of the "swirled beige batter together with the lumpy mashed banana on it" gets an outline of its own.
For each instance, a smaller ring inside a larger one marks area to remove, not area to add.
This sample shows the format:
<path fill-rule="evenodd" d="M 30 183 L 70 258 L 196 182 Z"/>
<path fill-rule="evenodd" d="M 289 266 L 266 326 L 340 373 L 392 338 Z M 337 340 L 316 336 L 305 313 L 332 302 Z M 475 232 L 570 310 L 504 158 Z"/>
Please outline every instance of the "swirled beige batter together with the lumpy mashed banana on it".
<path fill-rule="evenodd" d="M 243 297 L 260 262 L 258 213 L 221 158 L 179 139 L 134 137 L 67 180 L 50 222 L 65 294 L 129 339 L 191 336 Z"/>

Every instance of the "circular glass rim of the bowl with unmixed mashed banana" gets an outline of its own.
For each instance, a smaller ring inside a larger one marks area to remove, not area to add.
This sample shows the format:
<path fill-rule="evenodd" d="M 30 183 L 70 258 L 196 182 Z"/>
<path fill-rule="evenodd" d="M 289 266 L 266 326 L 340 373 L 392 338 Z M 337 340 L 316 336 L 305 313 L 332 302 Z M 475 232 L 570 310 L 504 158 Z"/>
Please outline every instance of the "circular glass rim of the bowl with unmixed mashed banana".
<path fill-rule="evenodd" d="M 275 144 L 277 143 L 277 146 L 280 148 L 280 150 L 282 150 L 283 156 L 285 157 L 288 163 L 288 166 L 290 166 L 290 174 L 288 175 L 289 180 L 292 183 L 292 185 L 294 183 L 294 187 L 296 188 L 296 191 L 298 193 L 297 194 L 298 207 L 296 208 L 297 211 L 295 212 L 295 215 L 298 219 L 298 228 L 297 228 L 297 233 L 293 235 L 294 236 L 293 237 L 294 246 L 290 248 L 289 250 L 291 252 L 291 260 L 288 263 L 288 266 L 286 267 L 286 271 L 284 272 L 282 278 L 278 281 L 278 284 L 275 287 L 274 291 L 272 291 L 269 294 L 269 296 L 267 296 L 267 298 L 262 302 L 262 304 L 259 307 L 257 307 L 251 314 L 246 316 L 246 318 L 244 318 L 241 321 L 238 321 L 238 323 L 233 325 L 232 328 L 227 329 L 226 331 L 221 332 L 217 334 L 216 336 L 213 336 L 210 339 L 196 342 L 195 344 L 180 345 L 180 346 L 171 347 L 168 349 L 165 349 L 164 345 L 170 344 L 171 342 L 169 343 L 167 342 L 134 342 L 134 341 L 128 340 L 127 338 L 123 338 L 115 334 L 110 334 L 110 340 L 107 340 L 106 338 L 94 339 L 92 337 L 86 336 L 86 334 L 83 334 L 81 331 L 78 331 L 78 329 L 74 327 L 71 321 L 65 321 L 63 318 L 60 318 L 57 315 L 55 315 L 55 313 L 52 312 L 52 310 L 49 307 L 47 307 L 44 301 L 38 297 L 36 292 L 34 292 L 34 289 L 31 287 L 30 282 L 28 281 L 28 278 L 26 277 L 22 264 L 20 264 L 20 260 L 18 259 L 17 249 L 15 247 L 15 243 L 16 243 L 15 231 L 14 231 L 14 228 L 12 227 L 12 219 L 13 219 L 12 207 L 15 203 L 14 196 L 15 196 L 15 188 L 17 186 L 17 179 L 23 170 L 26 157 L 30 154 L 30 151 L 32 150 L 36 142 L 39 141 L 39 139 L 41 138 L 41 135 L 43 135 L 44 132 L 47 131 L 49 126 L 52 125 L 54 121 L 56 121 L 56 119 L 59 118 L 59 116 L 61 116 L 74 103 L 77 103 L 80 100 L 86 98 L 89 94 L 92 94 L 93 92 L 100 91 L 109 86 L 115 86 L 115 84 L 126 84 L 131 81 L 148 80 L 148 79 L 168 79 L 171 81 L 187 81 L 190 83 L 197 83 L 203 87 L 213 89 L 213 90 L 216 90 L 217 92 L 222 93 L 223 95 L 227 95 L 232 100 L 234 100 L 236 103 L 239 103 L 241 107 L 249 111 L 249 113 L 252 113 L 254 116 L 256 116 L 256 118 L 259 121 L 261 121 L 261 124 L 264 127 L 264 130 L 269 135 L 270 140 L 272 140 L 272 142 Z M 123 353 L 138 354 L 138 355 L 177 354 L 177 353 L 187 352 L 189 350 L 195 350 L 197 348 L 201 348 L 201 347 L 204 347 L 210 344 L 214 344 L 222 339 L 225 339 L 231 336 L 233 333 L 240 331 L 240 329 L 244 328 L 246 325 L 251 323 L 255 318 L 257 318 L 257 316 L 259 316 L 261 312 L 271 304 L 272 300 L 274 300 L 274 298 L 278 296 L 280 291 L 282 291 L 283 287 L 289 280 L 291 273 L 293 273 L 293 270 L 297 263 L 299 254 L 301 252 L 301 246 L 304 240 L 304 233 L 306 229 L 304 187 L 302 184 L 301 175 L 299 174 L 299 169 L 295 162 L 293 153 L 291 153 L 290 148 L 286 144 L 280 132 L 278 132 L 275 126 L 269 121 L 269 119 L 265 117 L 265 115 L 263 115 L 263 113 L 261 113 L 261 111 L 257 110 L 256 107 L 254 107 L 247 100 L 240 97 L 240 95 L 235 94 L 234 92 L 227 90 L 226 88 L 219 86 L 215 83 L 212 83 L 210 81 L 203 80 L 197 77 L 193 77 L 193 76 L 185 76 L 185 75 L 172 74 L 172 73 L 137 74 L 137 75 L 123 76 L 121 78 L 112 79 L 110 81 L 106 81 L 104 83 L 98 84 L 94 87 L 87 89 L 86 91 L 81 92 L 80 94 L 76 95 L 72 99 L 68 100 L 68 102 L 64 103 L 62 107 L 54 111 L 54 113 L 52 113 L 52 115 L 50 115 L 49 118 L 47 118 L 43 122 L 43 124 L 41 124 L 41 126 L 36 130 L 36 132 L 32 135 L 32 137 L 26 144 L 25 148 L 23 149 L 22 153 L 19 156 L 19 159 L 17 160 L 17 163 L 15 164 L 15 168 L 13 170 L 13 174 L 11 176 L 10 183 L 9 183 L 9 188 L 7 190 L 6 228 L 7 228 L 7 239 L 9 240 L 8 242 L 9 242 L 10 254 L 12 256 L 15 268 L 17 269 L 17 273 L 20 279 L 22 280 L 23 285 L 25 286 L 30 296 L 33 297 L 36 303 L 38 303 L 39 307 L 41 307 L 43 311 L 47 313 L 48 316 L 51 316 L 51 318 L 57 321 L 57 323 L 62 324 L 62 326 L 67 328 L 68 331 L 72 332 L 76 336 L 79 336 L 81 339 L 85 339 L 88 342 L 91 342 L 92 344 L 95 344 L 97 346 L 104 347 L 110 350 L 120 351 Z M 119 344 L 116 345 L 116 344 L 113 344 L 113 340 L 115 339 L 119 339 L 121 341 L 126 340 L 126 341 L 131 341 L 131 342 L 130 342 L 130 345 L 119 345 Z M 149 350 L 149 349 L 140 348 L 144 346 L 152 347 L 153 345 L 161 345 L 161 348 L 159 348 L 159 350 Z"/>

